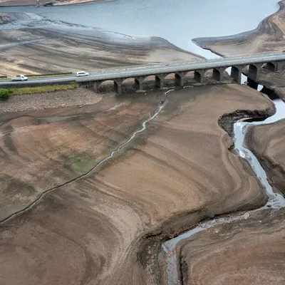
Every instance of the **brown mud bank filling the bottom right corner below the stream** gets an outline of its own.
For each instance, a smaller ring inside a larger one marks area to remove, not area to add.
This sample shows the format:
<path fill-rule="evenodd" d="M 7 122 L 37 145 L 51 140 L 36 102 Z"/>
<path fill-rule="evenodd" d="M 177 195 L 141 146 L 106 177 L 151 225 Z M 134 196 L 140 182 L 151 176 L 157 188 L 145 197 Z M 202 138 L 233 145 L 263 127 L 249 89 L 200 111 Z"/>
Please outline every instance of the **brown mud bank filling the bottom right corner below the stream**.
<path fill-rule="evenodd" d="M 284 209 L 266 209 L 193 235 L 177 250 L 182 284 L 285 284 L 284 219 Z"/>

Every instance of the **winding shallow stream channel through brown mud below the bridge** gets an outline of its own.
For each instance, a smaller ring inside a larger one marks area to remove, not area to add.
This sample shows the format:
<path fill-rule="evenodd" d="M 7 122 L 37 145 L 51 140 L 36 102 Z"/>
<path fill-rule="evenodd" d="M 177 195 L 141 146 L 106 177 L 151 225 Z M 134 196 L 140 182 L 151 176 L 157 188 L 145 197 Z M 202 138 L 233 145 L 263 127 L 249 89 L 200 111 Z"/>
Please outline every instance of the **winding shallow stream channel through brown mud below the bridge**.
<path fill-rule="evenodd" d="M 285 207 L 285 198 L 282 195 L 274 192 L 267 180 L 266 172 L 261 167 L 261 164 L 257 160 L 257 157 L 255 157 L 254 154 L 244 146 L 244 138 L 247 133 L 247 127 L 249 125 L 266 125 L 285 118 L 285 103 L 281 99 L 273 100 L 273 103 L 276 108 L 276 113 L 271 117 L 266 118 L 266 120 L 255 121 L 252 123 L 248 123 L 244 120 L 239 120 L 234 124 L 234 150 L 239 154 L 240 157 L 246 159 L 247 162 L 249 162 L 249 165 L 251 165 L 252 170 L 254 171 L 255 175 L 257 175 L 258 179 L 261 182 L 261 185 L 263 185 L 266 194 L 269 197 L 268 201 L 263 207 L 260 207 L 259 209 L 254 209 L 247 212 L 237 212 L 236 214 L 231 215 L 220 215 L 218 217 L 214 217 L 214 219 L 205 220 L 204 222 L 201 222 L 197 227 L 190 229 L 190 231 L 180 234 L 173 239 L 167 240 L 167 242 L 164 242 L 162 244 L 162 249 L 167 253 L 166 271 L 168 285 L 182 284 L 182 281 L 180 280 L 180 269 L 177 268 L 177 264 L 179 264 L 179 262 L 177 262 L 178 257 L 176 253 L 176 247 L 177 244 L 183 239 L 188 239 L 197 232 L 207 230 L 218 224 L 226 224 L 236 220 L 247 219 L 252 213 L 260 211 L 261 209 L 268 209 L 269 207 L 280 209 L 282 207 Z"/>

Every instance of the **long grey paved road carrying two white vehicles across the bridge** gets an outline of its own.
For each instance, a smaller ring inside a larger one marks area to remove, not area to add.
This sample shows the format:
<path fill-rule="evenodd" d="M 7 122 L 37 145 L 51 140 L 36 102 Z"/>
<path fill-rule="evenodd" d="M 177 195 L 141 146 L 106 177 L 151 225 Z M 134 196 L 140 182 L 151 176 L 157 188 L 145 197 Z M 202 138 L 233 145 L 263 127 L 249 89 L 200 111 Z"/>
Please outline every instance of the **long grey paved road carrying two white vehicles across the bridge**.
<path fill-rule="evenodd" d="M 210 69 L 219 67 L 247 65 L 250 63 L 266 63 L 270 61 L 285 61 L 285 53 L 269 53 L 257 56 L 239 56 L 232 58 L 214 58 L 211 60 L 195 61 L 190 63 L 175 63 L 157 66 L 130 66 L 127 68 L 108 68 L 100 71 L 90 72 L 89 76 L 58 76 L 46 78 L 30 78 L 28 81 L 11 82 L 0 80 L 0 86 L 28 84 L 28 83 L 56 83 L 68 81 L 101 81 L 115 78 L 128 78 L 133 76 L 149 76 L 159 73 L 173 73 L 178 71 L 197 71 L 199 69 Z"/>

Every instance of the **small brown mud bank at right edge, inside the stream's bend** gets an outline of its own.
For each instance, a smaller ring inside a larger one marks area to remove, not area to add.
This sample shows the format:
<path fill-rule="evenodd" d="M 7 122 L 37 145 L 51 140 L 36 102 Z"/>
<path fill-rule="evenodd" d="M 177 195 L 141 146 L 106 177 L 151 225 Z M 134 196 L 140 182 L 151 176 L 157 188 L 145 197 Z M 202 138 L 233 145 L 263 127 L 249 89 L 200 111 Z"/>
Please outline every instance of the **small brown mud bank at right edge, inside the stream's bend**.
<path fill-rule="evenodd" d="M 269 183 L 285 195 L 285 121 L 252 126 L 247 130 L 246 144 L 266 170 Z"/>

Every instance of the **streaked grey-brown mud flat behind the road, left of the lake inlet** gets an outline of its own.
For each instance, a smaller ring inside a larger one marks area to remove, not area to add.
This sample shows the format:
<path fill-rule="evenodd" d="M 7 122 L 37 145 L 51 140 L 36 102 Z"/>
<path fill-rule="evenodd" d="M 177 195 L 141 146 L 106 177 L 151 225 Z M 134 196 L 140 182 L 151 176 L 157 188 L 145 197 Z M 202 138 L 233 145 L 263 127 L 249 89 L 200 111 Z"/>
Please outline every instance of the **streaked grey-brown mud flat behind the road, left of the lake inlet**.
<path fill-rule="evenodd" d="M 19 20 L 15 18 L 19 16 Z M 119 33 L 55 24 L 36 15 L 3 14 L 0 31 L 1 74 L 58 73 L 98 68 L 170 62 L 201 58 L 163 38 L 131 37 Z M 33 28 L 31 28 L 33 27 Z M 21 40 L 19 40 L 21 38 Z"/>

